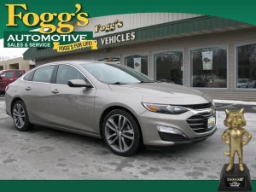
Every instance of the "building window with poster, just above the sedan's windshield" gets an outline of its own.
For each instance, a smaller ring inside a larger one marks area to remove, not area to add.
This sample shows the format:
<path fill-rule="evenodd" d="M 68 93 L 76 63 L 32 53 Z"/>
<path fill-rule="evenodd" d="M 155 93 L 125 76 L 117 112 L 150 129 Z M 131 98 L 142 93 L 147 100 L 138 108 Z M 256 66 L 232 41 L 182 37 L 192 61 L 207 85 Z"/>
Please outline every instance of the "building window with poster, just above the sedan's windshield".
<path fill-rule="evenodd" d="M 125 66 L 148 75 L 148 55 L 130 55 L 125 57 Z"/>

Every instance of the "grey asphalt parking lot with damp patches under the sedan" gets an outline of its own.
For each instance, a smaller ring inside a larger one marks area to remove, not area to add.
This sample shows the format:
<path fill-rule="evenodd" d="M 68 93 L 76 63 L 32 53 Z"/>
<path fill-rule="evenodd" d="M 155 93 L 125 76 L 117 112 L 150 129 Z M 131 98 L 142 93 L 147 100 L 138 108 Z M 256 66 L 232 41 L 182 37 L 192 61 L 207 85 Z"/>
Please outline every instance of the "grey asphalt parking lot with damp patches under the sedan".
<path fill-rule="evenodd" d="M 246 108 L 247 130 L 256 136 L 256 106 L 218 104 L 218 131 L 186 148 L 142 150 L 129 158 L 112 154 L 101 140 L 36 126 L 15 130 L 0 96 L 0 179 L 219 179 L 228 163 L 222 143 L 225 108 Z M 244 163 L 256 179 L 255 139 Z M 237 160 L 237 158 L 236 158 Z"/>

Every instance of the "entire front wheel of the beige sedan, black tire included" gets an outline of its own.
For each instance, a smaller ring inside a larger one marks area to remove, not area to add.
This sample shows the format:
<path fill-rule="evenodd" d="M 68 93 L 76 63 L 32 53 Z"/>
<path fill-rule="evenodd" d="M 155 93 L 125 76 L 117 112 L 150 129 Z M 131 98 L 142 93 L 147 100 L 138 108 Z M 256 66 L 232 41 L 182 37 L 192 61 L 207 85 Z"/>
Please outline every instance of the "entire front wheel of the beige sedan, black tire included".
<path fill-rule="evenodd" d="M 114 109 L 107 114 L 102 124 L 102 136 L 113 154 L 120 156 L 131 156 L 142 145 L 142 134 L 136 119 L 122 109 Z"/>

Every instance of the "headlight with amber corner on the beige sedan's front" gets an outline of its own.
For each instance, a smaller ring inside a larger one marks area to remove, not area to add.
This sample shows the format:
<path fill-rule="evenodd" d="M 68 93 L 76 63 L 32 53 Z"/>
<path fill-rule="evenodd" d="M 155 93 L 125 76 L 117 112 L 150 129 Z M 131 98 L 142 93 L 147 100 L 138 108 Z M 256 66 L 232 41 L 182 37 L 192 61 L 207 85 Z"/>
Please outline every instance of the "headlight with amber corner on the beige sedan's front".
<path fill-rule="evenodd" d="M 143 106 L 147 108 L 148 111 L 152 111 L 154 113 L 181 114 L 189 111 L 188 109 L 179 106 L 161 105 L 145 102 L 143 102 Z"/>

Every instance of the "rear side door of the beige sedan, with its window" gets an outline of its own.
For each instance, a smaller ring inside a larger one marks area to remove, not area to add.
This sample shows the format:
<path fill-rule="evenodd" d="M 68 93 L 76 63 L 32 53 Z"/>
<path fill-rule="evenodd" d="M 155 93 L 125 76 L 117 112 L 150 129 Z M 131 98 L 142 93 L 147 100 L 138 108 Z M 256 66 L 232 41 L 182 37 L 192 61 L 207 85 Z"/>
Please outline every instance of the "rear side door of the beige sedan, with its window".
<path fill-rule="evenodd" d="M 26 80 L 25 76 L 22 80 L 24 84 L 20 86 L 20 93 L 32 120 L 39 123 L 49 123 L 49 96 L 54 71 L 55 65 L 39 67 L 33 71 L 31 79 Z"/>

